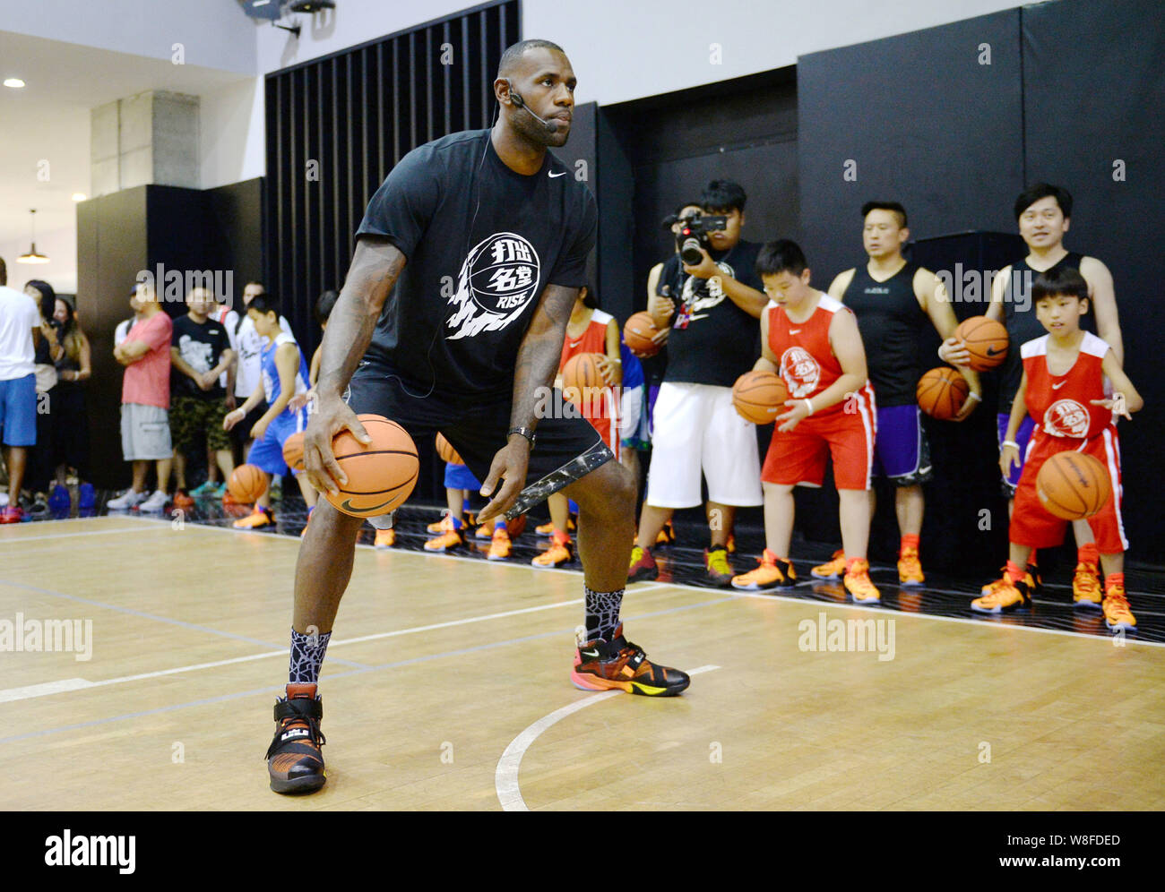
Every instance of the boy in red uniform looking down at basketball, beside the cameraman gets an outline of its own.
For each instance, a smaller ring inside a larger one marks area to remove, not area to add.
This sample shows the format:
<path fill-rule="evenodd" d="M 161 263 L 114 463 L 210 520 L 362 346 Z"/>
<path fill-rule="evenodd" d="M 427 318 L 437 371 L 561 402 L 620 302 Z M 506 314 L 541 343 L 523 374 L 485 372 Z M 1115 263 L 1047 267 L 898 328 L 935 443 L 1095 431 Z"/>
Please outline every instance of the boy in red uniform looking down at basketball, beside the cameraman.
<path fill-rule="evenodd" d="M 756 259 L 765 293 L 776 303 L 761 316 L 758 371 L 776 371 L 789 388 L 789 410 L 776 418 L 761 481 L 768 547 L 751 573 L 734 576 L 734 588 L 762 589 L 797 581 L 789 560 L 793 531 L 793 487 L 820 487 L 833 456 L 841 501 L 845 586 L 859 603 L 881 594 L 869 578 L 866 546 L 870 525 L 870 472 L 876 409 L 866 373 L 866 351 L 854 313 L 810 286 L 802 249 L 789 240 L 769 242 Z"/>

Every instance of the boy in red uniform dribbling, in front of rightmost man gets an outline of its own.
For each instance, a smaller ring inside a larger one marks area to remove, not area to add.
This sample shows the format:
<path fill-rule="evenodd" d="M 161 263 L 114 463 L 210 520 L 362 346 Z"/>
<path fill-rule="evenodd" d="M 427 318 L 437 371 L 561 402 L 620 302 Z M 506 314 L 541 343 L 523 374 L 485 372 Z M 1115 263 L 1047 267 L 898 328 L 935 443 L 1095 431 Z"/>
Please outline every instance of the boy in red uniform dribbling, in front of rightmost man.
<path fill-rule="evenodd" d="M 1137 621 L 1124 594 L 1124 552 L 1129 543 L 1121 521 L 1121 444 L 1114 415 L 1131 418 L 1130 412 L 1139 411 L 1144 401 L 1113 348 L 1080 327 L 1088 312 L 1088 283 L 1080 272 L 1067 268 L 1040 274 L 1032 284 L 1032 298 L 1047 334 L 1021 348 L 1023 375 L 1000 451 L 1000 469 L 1007 477 L 1019 463 L 1019 425 L 1025 416 L 1036 419 L 1016 487 L 1009 533 L 1011 555 L 1002 585 L 970 606 L 980 613 L 998 614 L 1031 603 L 1028 558 L 1033 548 L 1058 545 L 1067 524 L 1040 504 L 1036 476 L 1053 455 L 1073 451 L 1092 455 L 1109 475 L 1111 497 L 1088 518 L 1088 526 L 1096 538 L 1104 572 L 1100 604 L 1104 621 L 1113 631 L 1131 631 Z M 1106 396 L 1106 377 L 1113 385 L 1111 396 Z"/>

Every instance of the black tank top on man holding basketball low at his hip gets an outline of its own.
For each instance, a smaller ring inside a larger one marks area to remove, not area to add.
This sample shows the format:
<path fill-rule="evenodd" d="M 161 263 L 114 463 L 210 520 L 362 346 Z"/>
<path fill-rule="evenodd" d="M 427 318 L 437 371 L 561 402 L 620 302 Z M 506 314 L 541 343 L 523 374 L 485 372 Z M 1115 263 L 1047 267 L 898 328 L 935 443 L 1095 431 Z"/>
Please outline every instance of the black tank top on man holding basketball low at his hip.
<path fill-rule="evenodd" d="M 930 317 L 915 296 L 917 263 L 906 263 L 884 282 L 869 267 L 854 270 L 841 303 L 854 312 L 866 347 L 866 368 L 878 408 L 917 402 L 923 376 L 922 344 Z"/>

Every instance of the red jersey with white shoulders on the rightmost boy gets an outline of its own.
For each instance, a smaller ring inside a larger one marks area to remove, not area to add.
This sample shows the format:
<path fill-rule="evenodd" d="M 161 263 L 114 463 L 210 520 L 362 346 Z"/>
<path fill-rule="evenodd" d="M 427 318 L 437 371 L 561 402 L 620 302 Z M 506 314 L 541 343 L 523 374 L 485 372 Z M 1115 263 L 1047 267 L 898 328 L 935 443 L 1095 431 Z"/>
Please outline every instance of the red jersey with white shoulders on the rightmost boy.
<path fill-rule="evenodd" d="M 1028 373 L 1028 415 L 1038 430 L 1048 437 L 1090 440 L 1113 424 L 1113 411 L 1093 405 L 1104 398 L 1104 373 L 1101 368 L 1109 346 L 1095 334 L 1085 332 L 1080 355 L 1064 375 L 1047 369 L 1050 334 L 1028 341 L 1019 348 L 1023 369 Z"/>

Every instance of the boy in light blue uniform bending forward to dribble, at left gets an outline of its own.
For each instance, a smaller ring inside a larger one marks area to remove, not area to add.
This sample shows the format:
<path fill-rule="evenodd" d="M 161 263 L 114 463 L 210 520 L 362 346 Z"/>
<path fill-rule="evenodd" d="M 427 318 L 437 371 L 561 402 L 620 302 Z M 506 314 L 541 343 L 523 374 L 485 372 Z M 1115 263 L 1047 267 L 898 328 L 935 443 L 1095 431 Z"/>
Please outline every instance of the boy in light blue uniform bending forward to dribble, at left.
<path fill-rule="evenodd" d="M 247 397 L 246 402 L 230 412 L 223 419 L 223 430 L 230 431 L 247 412 L 267 401 L 267 411 L 250 429 L 254 443 L 247 453 L 247 463 L 254 465 L 266 480 L 263 493 L 255 500 L 255 510 L 248 517 L 242 517 L 232 524 L 238 530 L 255 530 L 275 523 L 271 514 L 270 479 L 275 474 L 287 474 L 289 468 L 283 460 L 283 444 L 292 433 L 304 430 L 306 411 L 292 411 L 288 403 L 297 392 L 308 389 L 308 363 L 299 351 L 295 338 L 280 325 L 280 305 L 274 295 L 261 293 L 252 298 L 247 306 L 247 317 L 255 333 L 267 339 L 260 352 L 259 387 Z M 295 472 L 296 481 L 303 501 L 308 504 L 308 519 L 316 507 L 316 489 L 305 474 Z"/>

